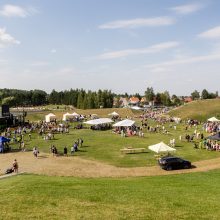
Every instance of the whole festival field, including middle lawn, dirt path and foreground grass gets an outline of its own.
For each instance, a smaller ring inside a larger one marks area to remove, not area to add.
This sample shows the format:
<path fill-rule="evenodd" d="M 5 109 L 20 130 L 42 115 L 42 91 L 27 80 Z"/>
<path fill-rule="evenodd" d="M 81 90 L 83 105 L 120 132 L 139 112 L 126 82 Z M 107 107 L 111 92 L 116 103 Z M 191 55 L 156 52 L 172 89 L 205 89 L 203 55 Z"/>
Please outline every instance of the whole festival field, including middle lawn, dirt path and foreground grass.
<path fill-rule="evenodd" d="M 140 113 L 127 109 L 76 112 L 107 117 L 114 110 L 140 124 Z M 181 108 L 176 111 L 186 114 Z M 217 111 L 204 115 L 218 116 Z M 51 111 L 30 113 L 28 119 L 43 120 L 48 112 Z M 61 119 L 67 111 L 60 108 L 53 112 Z M 156 126 L 151 120 L 148 124 Z M 14 143 L 13 153 L 0 155 L 0 174 L 14 158 L 18 159 L 19 172 L 27 173 L 0 178 L 0 220 L 219 219 L 220 153 L 195 149 L 194 141 L 188 143 L 184 139 L 185 134 L 191 135 L 195 129 L 208 136 L 202 125 L 186 131 L 185 124 L 177 124 L 175 130 L 174 123 L 167 123 L 168 134 L 152 133 L 145 128 L 143 138 L 124 138 L 111 130 L 93 131 L 89 127 L 78 130 L 74 129 L 76 123 L 70 125 L 69 133 L 55 134 L 54 140 L 43 140 L 37 133 L 32 133 L 29 140 L 26 134 L 27 152 L 16 152 L 19 145 Z M 70 155 L 70 147 L 78 138 L 84 140 L 83 146 Z M 173 138 L 175 155 L 192 161 L 193 169 L 167 172 L 157 165 L 155 153 L 148 146 L 160 141 L 168 144 Z M 50 154 L 52 144 L 58 148 L 59 157 Z M 40 150 L 38 159 L 31 152 L 34 146 Z M 64 146 L 68 147 L 68 157 L 63 156 Z M 124 147 L 143 147 L 146 152 L 123 154 L 120 149 Z"/>

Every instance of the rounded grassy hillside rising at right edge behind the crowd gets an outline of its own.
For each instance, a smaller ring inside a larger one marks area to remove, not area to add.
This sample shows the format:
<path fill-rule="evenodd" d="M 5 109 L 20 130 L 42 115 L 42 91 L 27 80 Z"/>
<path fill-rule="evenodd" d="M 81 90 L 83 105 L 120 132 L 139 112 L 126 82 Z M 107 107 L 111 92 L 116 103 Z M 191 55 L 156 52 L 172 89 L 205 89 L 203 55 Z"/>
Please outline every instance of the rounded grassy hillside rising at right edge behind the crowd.
<path fill-rule="evenodd" d="M 170 111 L 169 115 L 182 119 L 190 118 L 201 121 L 206 121 L 213 116 L 220 119 L 220 99 L 194 101 Z"/>

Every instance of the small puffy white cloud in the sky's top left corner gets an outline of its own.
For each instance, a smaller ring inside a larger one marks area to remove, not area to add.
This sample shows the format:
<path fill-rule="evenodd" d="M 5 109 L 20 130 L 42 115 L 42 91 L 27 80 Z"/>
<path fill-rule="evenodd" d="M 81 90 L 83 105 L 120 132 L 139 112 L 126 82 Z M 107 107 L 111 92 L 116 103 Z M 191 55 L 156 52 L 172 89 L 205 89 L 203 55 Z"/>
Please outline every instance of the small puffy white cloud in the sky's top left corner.
<path fill-rule="evenodd" d="M 4 5 L 0 10 L 0 15 L 4 17 L 22 17 L 25 18 L 29 15 L 33 15 L 38 13 L 38 10 L 29 7 L 29 8 L 22 8 L 17 5 Z"/>

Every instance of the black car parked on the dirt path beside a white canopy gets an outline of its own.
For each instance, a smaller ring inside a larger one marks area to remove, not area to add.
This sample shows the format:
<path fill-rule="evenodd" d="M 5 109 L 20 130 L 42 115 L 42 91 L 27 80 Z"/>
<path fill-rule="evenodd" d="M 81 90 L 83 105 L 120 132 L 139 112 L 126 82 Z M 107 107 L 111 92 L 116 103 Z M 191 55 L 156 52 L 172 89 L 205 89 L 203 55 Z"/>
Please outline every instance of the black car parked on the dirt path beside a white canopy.
<path fill-rule="evenodd" d="M 192 167 L 190 161 L 180 157 L 162 157 L 158 163 L 164 170 L 189 169 Z"/>

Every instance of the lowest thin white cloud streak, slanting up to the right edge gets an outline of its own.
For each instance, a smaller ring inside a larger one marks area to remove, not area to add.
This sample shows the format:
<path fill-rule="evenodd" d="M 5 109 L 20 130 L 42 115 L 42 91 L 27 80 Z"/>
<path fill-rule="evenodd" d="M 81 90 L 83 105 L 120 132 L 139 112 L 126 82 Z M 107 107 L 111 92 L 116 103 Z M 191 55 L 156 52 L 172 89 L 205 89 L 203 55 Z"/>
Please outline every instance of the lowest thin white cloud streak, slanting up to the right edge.
<path fill-rule="evenodd" d="M 187 57 L 184 59 L 174 59 L 171 61 L 156 63 L 156 64 L 149 64 L 145 67 L 154 70 L 163 70 L 167 67 L 177 66 L 177 65 L 185 65 L 185 64 L 192 64 L 192 63 L 203 63 L 203 62 L 210 62 L 220 60 L 220 53 L 212 53 L 204 56 L 194 56 L 194 57 Z"/>

